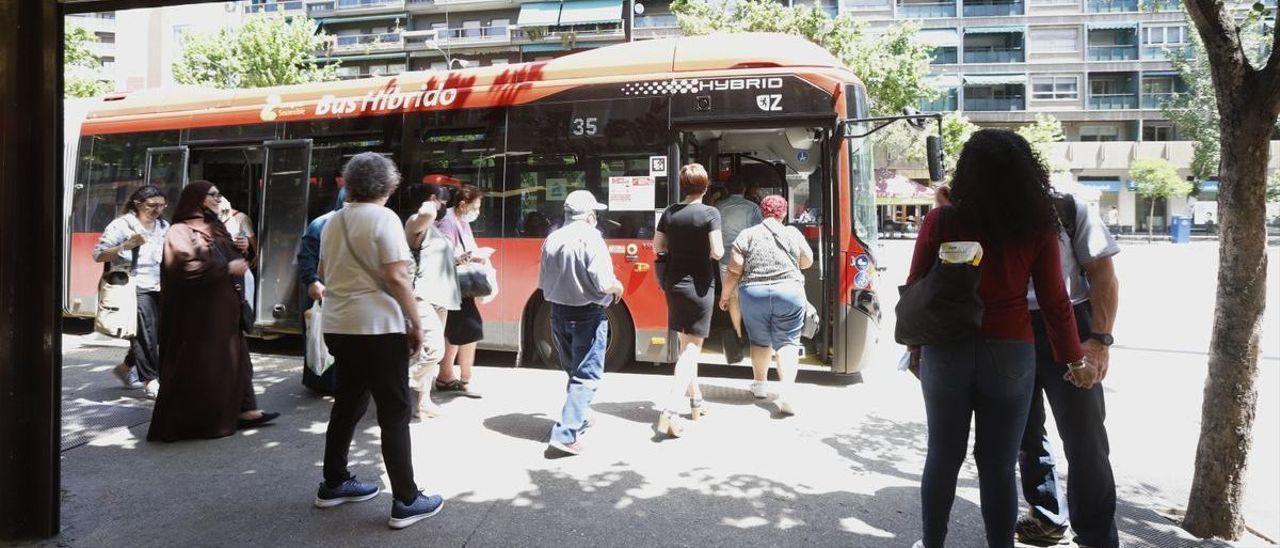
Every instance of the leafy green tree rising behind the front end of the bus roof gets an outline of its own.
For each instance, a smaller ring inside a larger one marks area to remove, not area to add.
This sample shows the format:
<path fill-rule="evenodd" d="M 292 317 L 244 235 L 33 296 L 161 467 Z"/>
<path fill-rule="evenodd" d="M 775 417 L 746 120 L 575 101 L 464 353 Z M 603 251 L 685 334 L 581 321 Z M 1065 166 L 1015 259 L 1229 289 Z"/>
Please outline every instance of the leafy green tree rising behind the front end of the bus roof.
<path fill-rule="evenodd" d="M 937 93 L 927 82 L 932 47 L 915 41 L 915 23 L 873 35 L 847 14 L 831 18 L 815 6 L 772 0 L 675 0 L 671 12 L 686 35 L 780 32 L 808 38 L 858 76 L 877 115 L 897 114 Z"/>

